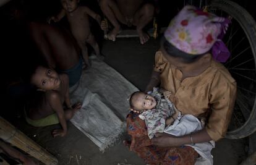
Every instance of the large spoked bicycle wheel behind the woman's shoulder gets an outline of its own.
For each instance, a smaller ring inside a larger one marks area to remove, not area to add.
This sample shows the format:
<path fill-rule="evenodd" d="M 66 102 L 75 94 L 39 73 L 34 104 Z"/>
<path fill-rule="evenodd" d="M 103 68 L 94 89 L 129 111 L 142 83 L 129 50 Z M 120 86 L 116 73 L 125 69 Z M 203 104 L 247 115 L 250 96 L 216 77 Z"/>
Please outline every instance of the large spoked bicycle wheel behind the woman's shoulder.
<path fill-rule="evenodd" d="M 237 99 L 226 138 L 244 138 L 256 131 L 256 23 L 243 7 L 228 0 L 211 1 L 207 11 L 232 17 L 223 38 L 231 52 L 224 66 L 237 82 Z"/>

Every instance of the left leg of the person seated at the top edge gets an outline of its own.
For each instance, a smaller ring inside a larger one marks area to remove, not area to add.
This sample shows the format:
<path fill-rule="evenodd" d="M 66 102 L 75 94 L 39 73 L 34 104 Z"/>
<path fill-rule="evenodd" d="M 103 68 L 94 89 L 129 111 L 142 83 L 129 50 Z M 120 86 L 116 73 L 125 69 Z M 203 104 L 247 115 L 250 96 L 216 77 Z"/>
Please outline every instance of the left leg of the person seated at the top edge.
<path fill-rule="evenodd" d="M 103 14 L 106 15 L 108 20 L 114 26 L 113 30 L 108 33 L 108 39 L 115 41 L 116 35 L 119 33 L 119 30 L 121 28 L 119 22 L 126 24 L 126 19 L 124 15 L 122 15 L 114 0 L 100 0 L 99 4 Z"/>

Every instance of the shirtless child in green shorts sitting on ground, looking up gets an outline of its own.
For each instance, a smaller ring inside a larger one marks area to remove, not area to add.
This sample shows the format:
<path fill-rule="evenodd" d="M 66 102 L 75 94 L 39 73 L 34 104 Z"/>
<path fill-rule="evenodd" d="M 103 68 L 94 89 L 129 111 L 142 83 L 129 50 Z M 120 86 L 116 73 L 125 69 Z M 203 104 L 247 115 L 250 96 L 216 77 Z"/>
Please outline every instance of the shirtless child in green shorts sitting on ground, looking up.
<path fill-rule="evenodd" d="M 81 108 L 77 103 L 71 106 L 69 99 L 69 77 L 57 74 L 55 70 L 38 66 L 30 77 L 30 83 L 35 85 L 41 97 L 33 97 L 25 108 L 26 121 L 35 127 L 61 124 L 62 129 L 53 130 L 53 137 L 63 137 L 67 133 L 67 123 L 74 113 Z M 38 99 L 40 98 L 40 99 Z M 63 104 L 67 109 L 64 110 Z"/>

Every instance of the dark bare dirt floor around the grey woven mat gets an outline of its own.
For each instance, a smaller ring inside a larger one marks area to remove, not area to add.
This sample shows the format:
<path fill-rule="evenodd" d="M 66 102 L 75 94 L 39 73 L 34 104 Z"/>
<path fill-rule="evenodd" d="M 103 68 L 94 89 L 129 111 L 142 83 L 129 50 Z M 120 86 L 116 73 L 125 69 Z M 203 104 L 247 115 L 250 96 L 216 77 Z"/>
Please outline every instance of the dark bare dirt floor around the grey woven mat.
<path fill-rule="evenodd" d="M 144 90 L 150 78 L 154 55 L 158 48 L 159 39 L 151 38 L 147 44 L 141 45 L 138 38 L 118 38 L 115 42 L 103 41 L 102 52 L 105 54 L 105 62 L 109 66 L 116 69 L 140 90 Z M 16 126 L 36 143 L 46 148 L 49 153 L 56 156 L 61 165 L 145 164 L 137 154 L 122 145 L 122 139 L 127 137 L 126 133 L 114 146 L 108 148 L 105 153 L 101 153 L 98 147 L 70 122 L 68 122 L 66 137 L 56 138 L 51 136 L 51 130 L 60 127 L 59 125 L 35 128 L 20 120 Z M 245 138 L 220 140 L 212 151 L 214 164 L 236 165 L 241 163 L 246 156 L 246 144 L 247 139 Z"/>

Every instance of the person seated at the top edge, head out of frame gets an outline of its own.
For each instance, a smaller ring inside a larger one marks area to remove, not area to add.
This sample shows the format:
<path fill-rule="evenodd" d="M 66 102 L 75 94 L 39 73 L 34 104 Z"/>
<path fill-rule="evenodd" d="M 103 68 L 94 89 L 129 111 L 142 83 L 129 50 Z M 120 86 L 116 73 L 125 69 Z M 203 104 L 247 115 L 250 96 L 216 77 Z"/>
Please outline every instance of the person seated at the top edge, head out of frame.
<path fill-rule="evenodd" d="M 143 28 L 153 19 L 153 4 L 145 0 L 98 0 L 103 14 L 114 26 L 108 33 L 108 40 L 115 41 L 116 35 L 121 30 L 120 23 L 130 27 L 134 25 L 140 38 L 140 43 L 145 44 L 149 40 Z M 104 23 L 101 28 L 105 30 Z"/>

